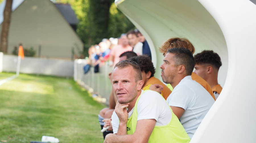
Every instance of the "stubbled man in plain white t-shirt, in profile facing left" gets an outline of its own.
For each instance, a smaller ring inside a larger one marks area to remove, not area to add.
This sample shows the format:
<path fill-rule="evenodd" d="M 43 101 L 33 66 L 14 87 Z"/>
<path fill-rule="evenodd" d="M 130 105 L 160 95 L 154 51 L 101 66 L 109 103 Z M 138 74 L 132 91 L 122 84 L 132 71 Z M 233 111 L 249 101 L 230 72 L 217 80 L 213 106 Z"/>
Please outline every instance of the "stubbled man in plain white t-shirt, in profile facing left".
<path fill-rule="evenodd" d="M 192 80 L 194 67 L 193 54 L 186 48 L 169 49 L 160 66 L 163 81 L 174 88 L 166 101 L 190 138 L 214 103 L 207 90 Z M 162 88 L 159 87 L 151 86 L 150 89 L 160 92 Z"/>

